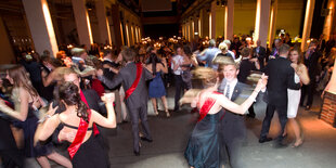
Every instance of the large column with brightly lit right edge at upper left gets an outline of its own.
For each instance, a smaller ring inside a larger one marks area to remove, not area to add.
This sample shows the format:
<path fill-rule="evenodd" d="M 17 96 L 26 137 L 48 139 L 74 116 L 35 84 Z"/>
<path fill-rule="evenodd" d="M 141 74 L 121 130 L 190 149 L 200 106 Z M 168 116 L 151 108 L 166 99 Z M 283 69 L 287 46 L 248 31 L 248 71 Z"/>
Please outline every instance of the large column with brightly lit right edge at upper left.
<path fill-rule="evenodd" d="M 25 0 L 22 2 L 36 51 L 42 54 L 44 50 L 49 50 L 50 54 L 55 56 L 59 47 L 47 0 Z"/>

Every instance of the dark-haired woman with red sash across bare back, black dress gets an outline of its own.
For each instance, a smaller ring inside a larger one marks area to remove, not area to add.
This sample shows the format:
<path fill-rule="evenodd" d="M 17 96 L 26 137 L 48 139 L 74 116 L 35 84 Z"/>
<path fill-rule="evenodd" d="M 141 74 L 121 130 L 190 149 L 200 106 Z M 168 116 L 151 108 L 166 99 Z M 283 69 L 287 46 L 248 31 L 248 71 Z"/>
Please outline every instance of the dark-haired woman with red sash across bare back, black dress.
<path fill-rule="evenodd" d="M 61 85 L 59 88 L 60 106 L 64 106 L 65 111 L 54 114 L 57 107 L 52 108 L 51 105 L 49 116 L 44 117 L 46 121 L 39 126 L 36 137 L 44 141 L 56 128 L 61 129 L 59 140 L 72 143 L 68 152 L 74 168 L 107 168 L 109 167 L 108 154 L 104 145 L 100 143 L 99 137 L 94 134 L 93 124 L 106 128 L 116 127 L 114 94 L 106 93 L 102 98 L 106 104 L 107 118 L 88 108 L 81 101 L 81 96 L 83 95 L 73 82 Z"/>

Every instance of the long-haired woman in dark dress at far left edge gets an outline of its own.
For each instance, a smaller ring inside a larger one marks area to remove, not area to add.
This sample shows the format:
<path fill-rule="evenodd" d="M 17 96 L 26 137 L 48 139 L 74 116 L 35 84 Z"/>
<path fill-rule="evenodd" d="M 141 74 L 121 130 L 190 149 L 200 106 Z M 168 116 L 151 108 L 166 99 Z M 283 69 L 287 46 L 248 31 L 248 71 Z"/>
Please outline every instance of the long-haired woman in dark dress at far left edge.
<path fill-rule="evenodd" d="M 7 72 L 7 79 L 13 85 L 12 100 L 15 109 L 9 107 L 4 101 L 0 101 L 0 111 L 20 121 L 16 127 L 24 131 L 24 153 L 26 157 L 36 157 L 43 168 L 49 168 L 48 158 L 64 167 L 72 167 L 70 161 L 53 151 L 52 145 L 34 144 L 34 135 L 38 126 L 36 114 L 42 105 L 37 91 L 31 86 L 27 72 L 22 65 L 14 66 Z"/>

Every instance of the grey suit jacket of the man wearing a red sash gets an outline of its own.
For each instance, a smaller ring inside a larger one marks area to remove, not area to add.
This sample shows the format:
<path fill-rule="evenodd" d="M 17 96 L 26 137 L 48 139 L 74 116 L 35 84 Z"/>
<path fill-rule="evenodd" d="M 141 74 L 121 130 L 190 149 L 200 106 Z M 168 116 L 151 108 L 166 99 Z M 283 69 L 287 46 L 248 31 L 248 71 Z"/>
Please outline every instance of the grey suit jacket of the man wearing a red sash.
<path fill-rule="evenodd" d="M 118 85 L 122 85 L 125 91 L 127 91 L 137 78 L 137 65 L 134 62 L 128 63 L 124 68 L 119 70 L 119 74 L 113 80 L 107 79 L 104 76 L 100 76 L 99 79 L 104 82 L 109 89 L 116 88 Z M 138 108 L 142 105 L 146 105 L 148 101 L 148 91 L 146 87 L 146 80 L 153 78 L 153 75 L 143 67 L 140 81 L 133 91 L 133 93 L 126 100 L 126 104 L 129 108 Z"/>

